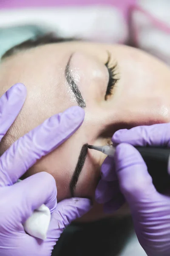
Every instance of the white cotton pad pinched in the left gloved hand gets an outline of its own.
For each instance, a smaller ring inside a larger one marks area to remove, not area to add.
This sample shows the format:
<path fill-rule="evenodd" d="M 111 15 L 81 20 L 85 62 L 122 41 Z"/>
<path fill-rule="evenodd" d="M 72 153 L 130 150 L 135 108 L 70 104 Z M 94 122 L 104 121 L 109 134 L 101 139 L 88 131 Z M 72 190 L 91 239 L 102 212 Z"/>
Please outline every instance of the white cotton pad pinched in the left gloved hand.
<path fill-rule="evenodd" d="M 46 239 L 51 213 L 45 204 L 36 209 L 23 224 L 25 231 L 30 235 L 42 240 Z"/>

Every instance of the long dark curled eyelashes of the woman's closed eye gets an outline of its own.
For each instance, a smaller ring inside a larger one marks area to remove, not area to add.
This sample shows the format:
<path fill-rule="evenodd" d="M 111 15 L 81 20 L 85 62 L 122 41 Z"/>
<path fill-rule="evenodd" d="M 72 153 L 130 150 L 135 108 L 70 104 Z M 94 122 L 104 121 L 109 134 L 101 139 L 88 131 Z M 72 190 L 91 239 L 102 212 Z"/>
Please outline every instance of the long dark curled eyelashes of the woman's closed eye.
<path fill-rule="evenodd" d="M 105 93 L 105 100 L 107 100 L 107 97 L 109 95 L 112 95 L 112 91 L 113 91 L 113 87 L 115 86 L 116 82 L 119 80 L 118 78 L 116 78 L 117 73 L 116 71 L 116 67 L 117 67 L 117 63 L 116 64 L 111 64 L 111 53 L 108 52 L 108 60 L 105 63 L 105 66 L 108 69 L 108 73 L 109 73 L 109 81 L 108 81 L 108 87 Z"/>

